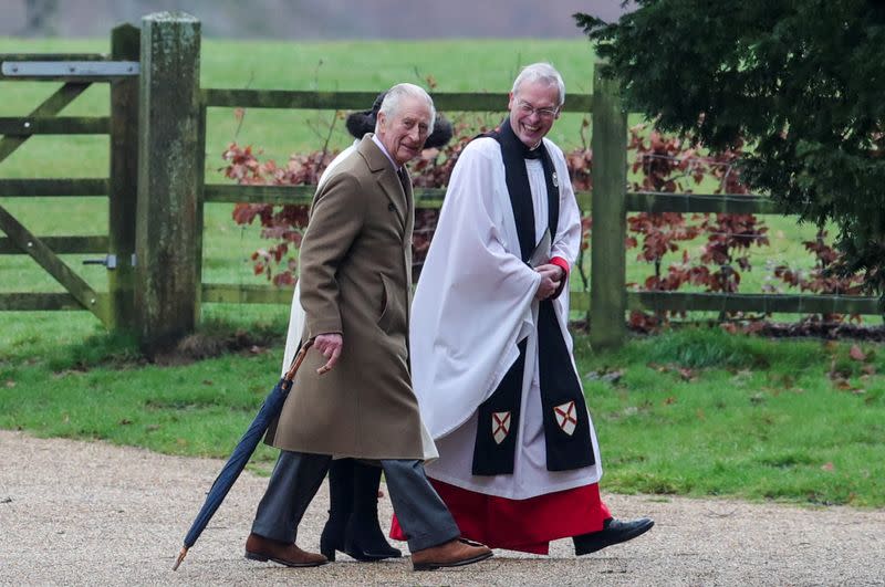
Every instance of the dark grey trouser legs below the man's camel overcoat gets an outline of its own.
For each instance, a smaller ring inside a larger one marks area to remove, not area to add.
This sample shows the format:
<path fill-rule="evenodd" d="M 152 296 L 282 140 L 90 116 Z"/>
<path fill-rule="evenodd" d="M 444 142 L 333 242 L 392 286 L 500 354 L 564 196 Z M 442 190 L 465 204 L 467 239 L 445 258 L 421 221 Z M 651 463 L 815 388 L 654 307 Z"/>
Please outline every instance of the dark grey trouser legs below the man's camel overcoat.
<path fill-rule="evenodd" d="M 252 532 L 280 542 L 294 542 L 298 525 L 323 483 L 332 457 L 280 451 L 268 490 L 258 504 Z M 413 553 L 461 535 L 439 499 L 421 461 L 383 460 L 384 476 L 394 512 Z"/>

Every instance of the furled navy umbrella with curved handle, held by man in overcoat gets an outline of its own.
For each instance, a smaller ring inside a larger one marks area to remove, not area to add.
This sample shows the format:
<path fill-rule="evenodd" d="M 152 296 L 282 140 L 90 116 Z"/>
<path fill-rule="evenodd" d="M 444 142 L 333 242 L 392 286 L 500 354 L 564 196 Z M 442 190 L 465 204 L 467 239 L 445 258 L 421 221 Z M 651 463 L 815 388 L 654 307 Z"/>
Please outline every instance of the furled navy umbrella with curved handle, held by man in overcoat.
<path fill-rule="evenodd" d="M 249 459 L 256 451 L 256 447 L 258 447 L 258 443 L 261 441 L 261 437 L 264 436 L 264 432 L 268 430 L 268 426 L 270 426 L 270 422 L 280 413 L 283 402 L 285 402 L 285 398 L 289 395 L 289 390 L 292 388 L 292 379 L 295 377 L 295 371 L 298 371 L 301 361 L 304 360 L 304 355 L 308 354 L 308 349 L 312 344 L 313 340 L 304 343 L 301 350 L 295 355 L 295 358 L 292 359 L 292 366 L 289 368 L 289 371 L 282 376 L 280 382 L 273 388 L 273 391 L 268 394 L 268 397 L 264 398 L 264 402 L 261 405 L 261 409 L 258 410 L 256 419 L 252 420 L 249 429 L 233 449 L 233 453 L 231 453 L 228 462 L 225 463 L 221 472 L 218 473 L 212 486 L 209 489 L 209 493 L 206 495 L 206 502 L 202 504 L 200 513 L 197 514 L 197 518 L 194 520 L 194 524 L 191 524 L 187 536 L 185 536 L 185 545 L 181 547 L 181 552 L 178 553 L 178 559 L 175 562 L 175 565 L 173 565 L 173 570 L 178 568 L 178 565 L 185 559 L 188 548 L 194 546 L 194 543 L 200 537 L 209 520 L 215 515 L 221 502 L 225 501 L 225 497 L 230 491 L 230 488 L 233 486 L 237 478 L 242 473 L 246 463 L 249 462 Z"/>

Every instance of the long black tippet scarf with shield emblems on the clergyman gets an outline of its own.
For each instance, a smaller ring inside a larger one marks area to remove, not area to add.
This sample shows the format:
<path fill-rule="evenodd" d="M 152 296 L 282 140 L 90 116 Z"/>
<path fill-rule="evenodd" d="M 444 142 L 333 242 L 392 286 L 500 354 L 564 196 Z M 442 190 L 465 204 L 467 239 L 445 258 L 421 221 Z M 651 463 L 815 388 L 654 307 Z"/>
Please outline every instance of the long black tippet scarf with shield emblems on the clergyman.
<path fill-rule="evenodd" d="M 551 235 L 556 234 L 560 216 L 560 191 L 559 182 L 554 180 L 553 160 L 544 148 L 543 141 L 534 150 L 525 147 L 513 133 L 509 118 L 501 124 L 498 130 L 483 136 L 491 137 L 501 145 L 504 178 L 517 223 L 520 254 L 523 261 L 528 261 L 537 244 L 534 242 L 534 208 L 525 159 L 540 158 L 544 167 Z M 568 181 L 568 178 L 563 178 L 563 180 Z M 507 371 L 498 389 L 477 409 L 477 440 L 473 448 L 472 468 L 475 475 L 513 473 L 518 424 L 522 408 L 525 345 L 525 339 L 518 344 L 519 358 Z M 590 439 L 590 422 L 584 396 L 572 367 L 572 357 L 562 337 L 551 300 L 540 303 L 538 353 L 548 471 L 570 471 L 594 464 L 596 461 Z M 561 426 L 562 423 L 565 423 L 565 427 Z M 569 434 L 565 429 L 570 429 L 572 423 L 574 423 L 574 429 Z M 504 429 L 507 429 L 506 434 L 502 433 Z M 496 432 L 500 442 L 496 440 Z M 503 437 L 502 440 L 501 437 Z"/>

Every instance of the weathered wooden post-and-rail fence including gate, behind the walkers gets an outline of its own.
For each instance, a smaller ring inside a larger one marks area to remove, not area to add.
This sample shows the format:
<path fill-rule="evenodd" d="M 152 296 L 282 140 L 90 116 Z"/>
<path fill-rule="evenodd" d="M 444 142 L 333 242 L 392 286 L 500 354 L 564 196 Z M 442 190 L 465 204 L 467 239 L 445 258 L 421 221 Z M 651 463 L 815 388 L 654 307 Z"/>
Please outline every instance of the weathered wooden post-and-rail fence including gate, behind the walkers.
<path fill-rule="evenodd" d="M 33 126 L 29 128 L 30 134 L 108 133 L 110 179 L 0 181 L 0 196 L 110 193 L 111 229 L 106 239 L 17 237 L 0 216 L 0 229 L 10 237 L 0 239 L 0 253 L 14 250 L 33 255 L 28 249 L 33 247 L 28 243 L 38 240 L 58 252 L 97 252 L 106 247 L 119 260 L 111 273 L 108 293 L 96 294 L 92 290 L 77 293 L 69 287 L 71 296 L 54 300 L 43 294 L 34 298 L 39 302 L 0 295 L 0 310 L 67 307 L 74 303 L 88 307 L 90 303 L 96 304 L 91 300 L 98 300 L 106 307 L 96 315 L 103 316 L 111 327 L 136 328 L 145 346 L 150 347 L 191 332 L 201 303 L 290 303 L 290 291 L 201 282 L 204 203 L 306 205 L 314 190 L 311 186 L 206 184 L 207 108 L 362 109 L 374 101 L 375 92 L 200 88 L 200 23 L 180 13 L 150 14 L 143 19 L 140 31 L 124 25 L 115 29 L 112 39 L 111 59 L 138 56 L 140 74 L 137 83 L 129 78 L 112 81 L 110 118 L 49 119 L 46 116 L 61 109 L 62 102 L 70 102 L 70 95 L 82 92 L 77 84 L 69 83 L 61 97 L 55 98 L 56 103 L 32 113 Z M 73 59 L 72 55 L 52 57 Z M 9 60 L 9 55 L 2 59 Z M 503 112 L 508 102 L 507 94 L 450 93 L 433 97 L 445 112 Z M 629 310 L 881 314 L 878 300 L 872 297 L 627 292 L 627 212 L 772 213 L 774 209 L 759 196 L 627 191 L 627 118 L 617 84 L 612 81 L 596 76 L 593 94 L 570 94 L 563 109 L 585 113 L 592 118 L 594 189 L 592 193 L 577 193 L 580 208 L 593 213 L 591 290 L 575 292 L 573 307 L 589 312 L 595 348 L 623 343 L 625 313 Z M 0 119 L 0 129 L 4 134 L 9 129 L 20 132 L 17 125 L 24 120 Z M 0 141 L 0 160 L 18 139 L 9 140 L 7 137 Z M 415 197 L 416 208 L 438 208 L 444 190 L 416 189 Z M 129 258 L 132 262 L 127 261 Z"/>

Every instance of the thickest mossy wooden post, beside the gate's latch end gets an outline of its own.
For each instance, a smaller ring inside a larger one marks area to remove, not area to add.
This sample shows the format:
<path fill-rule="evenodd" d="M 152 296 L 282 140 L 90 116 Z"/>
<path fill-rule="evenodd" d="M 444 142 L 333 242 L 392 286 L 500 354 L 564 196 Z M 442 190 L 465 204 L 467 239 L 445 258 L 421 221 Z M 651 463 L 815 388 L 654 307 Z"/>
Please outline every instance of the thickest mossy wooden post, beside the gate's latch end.
<path fill-rule="evenodd" d="M 144 17 L 140 61 L 135 301 L 152 353 L 194 332 L 199 313 L 200 22 Z"/>

